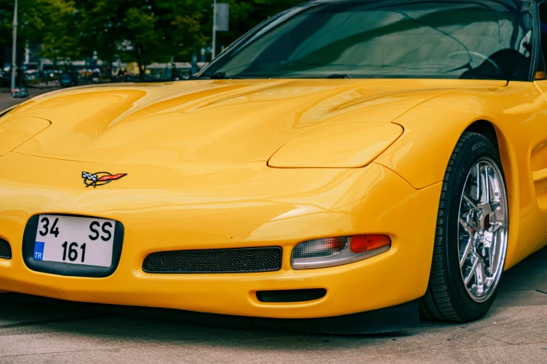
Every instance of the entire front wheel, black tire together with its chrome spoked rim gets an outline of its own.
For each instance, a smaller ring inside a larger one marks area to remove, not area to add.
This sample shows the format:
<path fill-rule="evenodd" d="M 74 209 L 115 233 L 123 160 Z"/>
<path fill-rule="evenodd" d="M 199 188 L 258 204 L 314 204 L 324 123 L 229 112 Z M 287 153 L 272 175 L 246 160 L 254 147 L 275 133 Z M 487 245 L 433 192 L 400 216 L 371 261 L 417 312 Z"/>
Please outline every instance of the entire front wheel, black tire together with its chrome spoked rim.
<path fill-rule="evenodd" d="M 422 317 L 461 322 L 486 314 L 502 278 L 508 232 L 499 154 L 483 135 L 465 132 L 444 176 Z"/>

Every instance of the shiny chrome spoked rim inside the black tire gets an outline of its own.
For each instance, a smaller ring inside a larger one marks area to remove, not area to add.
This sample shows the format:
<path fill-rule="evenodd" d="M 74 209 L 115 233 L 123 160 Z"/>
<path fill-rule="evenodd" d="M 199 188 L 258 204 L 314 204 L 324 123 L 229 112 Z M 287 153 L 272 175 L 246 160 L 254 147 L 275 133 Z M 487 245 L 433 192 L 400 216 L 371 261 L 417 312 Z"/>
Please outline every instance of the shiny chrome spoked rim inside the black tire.
<path fill-rule="evenodd" d="M 502 275 L 509 212 L 502 172 L 490 158 L 477 160 L 465 181 L 458 224 L 462 280 L 473 301 L 492 296 Z"/>

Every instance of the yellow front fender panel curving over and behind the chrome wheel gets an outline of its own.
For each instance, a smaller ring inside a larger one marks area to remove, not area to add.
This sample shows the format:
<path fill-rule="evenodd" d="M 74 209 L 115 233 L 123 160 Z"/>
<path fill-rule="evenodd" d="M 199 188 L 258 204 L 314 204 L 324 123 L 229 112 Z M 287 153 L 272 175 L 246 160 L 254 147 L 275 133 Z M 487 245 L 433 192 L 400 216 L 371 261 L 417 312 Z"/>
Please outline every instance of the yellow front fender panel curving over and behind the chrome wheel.
<path fill-rule="evenodd" d="M 506 178 L 509 268 L 545 242 L 546 211 L 538 206 L 530 159 L 534 147 L 547 141 L 547 102 L 534 84 L 510 82 L 497 89 L 460 89 L 428 100 L 393 121 L 404 133 L 375 162 L 416 189 L 439 183 L 458 139 L 479 120 L 490 122 L 496 131 Z"/>

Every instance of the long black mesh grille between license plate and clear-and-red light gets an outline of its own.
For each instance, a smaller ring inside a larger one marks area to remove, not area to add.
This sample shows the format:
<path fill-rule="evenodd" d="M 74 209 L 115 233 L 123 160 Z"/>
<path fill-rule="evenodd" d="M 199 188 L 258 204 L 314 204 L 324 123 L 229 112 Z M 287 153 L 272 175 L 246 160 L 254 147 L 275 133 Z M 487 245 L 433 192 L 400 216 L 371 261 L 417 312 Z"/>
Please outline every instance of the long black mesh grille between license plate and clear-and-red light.
<path fill-rule="evenodd" d="M 279 247 L 156 252 L 145 258 L 147 273 L 251 273 L 281 269 Z"/>

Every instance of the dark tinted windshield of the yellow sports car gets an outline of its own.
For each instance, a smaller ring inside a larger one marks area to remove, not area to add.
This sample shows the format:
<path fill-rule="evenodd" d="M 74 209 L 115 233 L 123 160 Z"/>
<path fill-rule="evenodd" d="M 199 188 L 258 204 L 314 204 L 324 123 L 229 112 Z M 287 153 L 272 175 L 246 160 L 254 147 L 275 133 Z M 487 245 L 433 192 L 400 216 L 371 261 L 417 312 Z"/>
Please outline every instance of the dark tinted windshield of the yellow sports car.
<path fill-rule="evenodd" d="M 198 77 L 526 81 L 532 24 L 527 1 L 308 3 L 258 26 Z"/>

